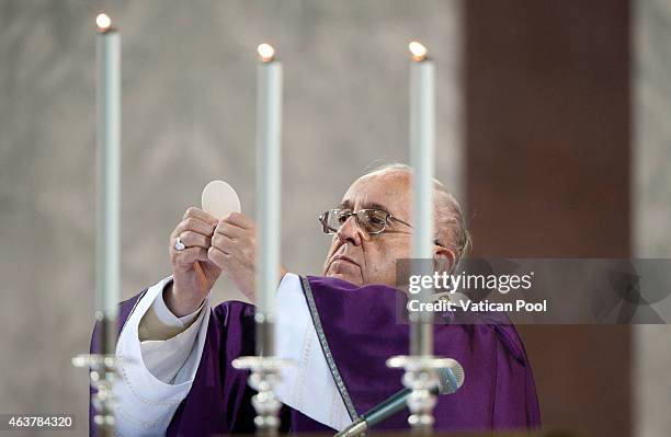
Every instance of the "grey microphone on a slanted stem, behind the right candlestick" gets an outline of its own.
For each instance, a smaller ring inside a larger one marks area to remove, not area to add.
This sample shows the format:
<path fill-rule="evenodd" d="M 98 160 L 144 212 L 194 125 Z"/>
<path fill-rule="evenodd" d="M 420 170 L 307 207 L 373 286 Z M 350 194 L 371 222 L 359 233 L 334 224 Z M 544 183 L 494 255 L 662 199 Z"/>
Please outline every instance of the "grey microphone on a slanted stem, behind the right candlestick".
<path fill-rule="evenodd" d="M 450 366 L 437 369 L 437 377 L 439 383 L 431 390 L 431 393 L 451 394 L 457 391 L 464 383 L 464 368 L 456 360 L 452 359 Z M 371 427 L 385 422 L 403 410 L 411 392 L 412 390 L 408 388 L 399 390 L 396 394 L 365 412 L 360 418 L 336 434 L 334 437 L 355 437 L 365 433 Z"/>

